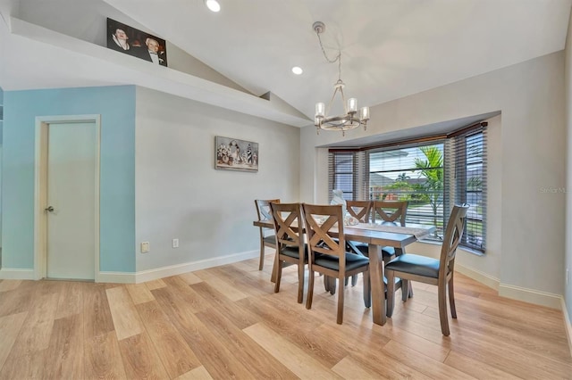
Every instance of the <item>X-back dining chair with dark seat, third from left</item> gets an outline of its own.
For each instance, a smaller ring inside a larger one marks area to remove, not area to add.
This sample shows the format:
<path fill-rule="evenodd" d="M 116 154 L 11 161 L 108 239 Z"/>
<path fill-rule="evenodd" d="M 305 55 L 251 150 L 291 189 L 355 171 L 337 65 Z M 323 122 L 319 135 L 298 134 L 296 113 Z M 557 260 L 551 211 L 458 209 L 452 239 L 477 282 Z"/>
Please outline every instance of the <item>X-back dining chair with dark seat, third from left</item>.
<path fill-rule="evenodd" d="M 364 302 L 371 306 L 371 284 L 369 278 L 369 259 L 351 252 L 346 252 L 346 239 L 343 235 L 342 206 L 315 205 L 303 203 L 306 221 L 309 284 L 307 288 L 306 309 L 312 308 L 314 297 L 315 272 L 324 276 L 337 278 L 340 284 L 338 291 L 338 315 L 336 322 L 343 322 L 344 279 L 357 273 L 364 274 Z M 332 233 L 331 229 L 337 229 Z"/>

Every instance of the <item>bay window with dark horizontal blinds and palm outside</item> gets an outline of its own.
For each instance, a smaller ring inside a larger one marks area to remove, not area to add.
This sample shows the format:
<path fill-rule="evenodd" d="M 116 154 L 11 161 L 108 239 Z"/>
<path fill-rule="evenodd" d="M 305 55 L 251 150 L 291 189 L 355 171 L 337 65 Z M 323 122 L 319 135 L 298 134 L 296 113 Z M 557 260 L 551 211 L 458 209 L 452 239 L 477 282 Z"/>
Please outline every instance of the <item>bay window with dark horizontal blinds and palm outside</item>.
<path fill-rule="evenodd" d="M 486 237 L 486 123 L 448 136 L 331 150 L 329 189 L 347 200 L 408 201 L 408 223 L 436 227 L 441 240 L 452 206 L 470 204 L 461 245 L 484 252 Z"/>

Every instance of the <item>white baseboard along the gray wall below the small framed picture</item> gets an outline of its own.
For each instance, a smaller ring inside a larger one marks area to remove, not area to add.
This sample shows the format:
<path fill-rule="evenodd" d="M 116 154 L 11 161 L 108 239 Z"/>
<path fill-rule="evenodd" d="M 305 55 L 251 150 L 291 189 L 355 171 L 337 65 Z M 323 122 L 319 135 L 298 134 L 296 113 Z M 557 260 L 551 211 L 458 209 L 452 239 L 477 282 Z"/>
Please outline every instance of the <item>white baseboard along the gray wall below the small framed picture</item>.
<path fill-rule="evenodd" d="M 137 272 L 135 282 L 139 284 L 145 281 L 156 280 L 158 278 L 181 275 L 181 273 L 188 273 L 195 270 L 218 267 L 220 265 L 257 258 L 259 255 L 259 251 L 240 252 L 227 256 L 214 257 L 212 259 L 185 262 L 182 264 L 170 265 L 168 267 L 142 270 Z"/>

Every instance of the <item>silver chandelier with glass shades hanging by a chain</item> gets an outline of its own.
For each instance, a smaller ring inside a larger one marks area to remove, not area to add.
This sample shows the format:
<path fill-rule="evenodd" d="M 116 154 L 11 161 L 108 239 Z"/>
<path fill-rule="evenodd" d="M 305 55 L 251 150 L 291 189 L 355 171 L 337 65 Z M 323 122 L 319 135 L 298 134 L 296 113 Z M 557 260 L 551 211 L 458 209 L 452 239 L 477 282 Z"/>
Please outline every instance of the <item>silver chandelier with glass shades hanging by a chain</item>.
<path fill-rule="evenodd" d="M 324 45 L 322 45 L 322 38 L 320 37 L 320 33 L 323 33 L 325 30 L 324 22 L 315 21 L 312 28 L 315 31 L 315 35 L 318 37 L 318 41 L 320 41 L 320 47 L 322 48 L 325 60 L 329 63 L 338 62 L 338 81 L 333 85 L 333 95 L 332 99 L 330 99 L 330 103 L 328 103 L 328 108 L 325 108 L 324 103 L 315 103 L 314 125 L 317 133 L 320 134 L 320 129 L 341 130 L 342 136 L 345 136 L 347 130 L 357 128 L 360 125 L 363 125 L 364 130 L 366 130 L 367 120 L 369 120 L 369 107 L 362 107 L 359 110 L 358 116 L 357 99 L 355 97 L 351 97 L 346 102 L 346 96 L 343 94 L 343 87 L 345 87 L 345 84 L 341 80 L 341 51 L 338 51 L 338 55 L 333 60 L 328 58 L 328 55 L 325 54 Z M 343 103 L 345 113 L 338 116 L 327 116 L 337 94 L 340 94 L 341 96 L 341 103 Z"/>

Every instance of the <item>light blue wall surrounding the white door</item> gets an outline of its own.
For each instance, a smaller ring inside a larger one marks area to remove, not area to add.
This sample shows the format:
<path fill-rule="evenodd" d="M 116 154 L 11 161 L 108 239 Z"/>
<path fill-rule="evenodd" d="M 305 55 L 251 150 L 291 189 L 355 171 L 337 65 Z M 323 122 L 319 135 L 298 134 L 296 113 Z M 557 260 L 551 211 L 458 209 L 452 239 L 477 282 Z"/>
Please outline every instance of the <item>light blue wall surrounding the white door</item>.
<path fill-rule="evenodd" d="M 135 272 L 135 87 L 4 91 L 2 265 L 34 268 L 37 116 L 101 115 L 101 271 Z"/>

